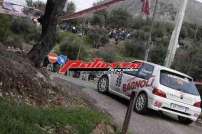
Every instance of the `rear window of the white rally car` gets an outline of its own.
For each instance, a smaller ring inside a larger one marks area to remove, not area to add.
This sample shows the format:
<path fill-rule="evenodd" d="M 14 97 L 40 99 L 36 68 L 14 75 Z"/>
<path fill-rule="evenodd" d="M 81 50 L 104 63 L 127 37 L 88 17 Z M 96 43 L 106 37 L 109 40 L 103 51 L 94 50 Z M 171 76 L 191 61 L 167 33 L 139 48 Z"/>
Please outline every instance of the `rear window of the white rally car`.
<path fill-rule="evenodd" d="M 194 83 L 185 76 L 161 70 L 160 84 L 192 95 L 199 95 Z"/>

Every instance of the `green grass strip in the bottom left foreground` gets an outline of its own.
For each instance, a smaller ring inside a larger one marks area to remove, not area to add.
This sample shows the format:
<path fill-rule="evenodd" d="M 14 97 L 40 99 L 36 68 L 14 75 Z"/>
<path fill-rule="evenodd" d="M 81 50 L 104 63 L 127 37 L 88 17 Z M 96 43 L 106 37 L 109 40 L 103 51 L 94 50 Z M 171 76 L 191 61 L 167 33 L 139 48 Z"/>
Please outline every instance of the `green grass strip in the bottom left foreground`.
<path fill-rule="evenodd" d="M 37 108 L 0 99 L 0 134 L 45 134 L 41 128 L 66 125 L 89 134 L 100 122 L 110 123 L 110 118 L 89 108 Z"/>

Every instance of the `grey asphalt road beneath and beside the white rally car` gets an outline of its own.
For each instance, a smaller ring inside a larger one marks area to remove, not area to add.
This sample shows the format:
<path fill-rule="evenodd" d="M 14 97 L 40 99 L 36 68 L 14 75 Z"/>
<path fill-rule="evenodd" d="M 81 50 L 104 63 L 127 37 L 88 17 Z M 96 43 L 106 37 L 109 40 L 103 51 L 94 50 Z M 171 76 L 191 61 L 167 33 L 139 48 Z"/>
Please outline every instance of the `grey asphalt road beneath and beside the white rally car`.
<path fill-rule="evenodd" d="M 97 92 L 95 83 L 73 79 L 58 74 L 52 74 L 65 80 L 68 84 L 79 86 L 80 90 L 88 94 L 94 104 L 108 112 L 120 127 L 124 121 L 128 101 L 114 95 L 103 95 Z M 180 124 L 168 116 L 151 111 L 148 115 L 132 113 L 129 131 L 132 134 L 201 134 L 202 126 L 193 123 L 189 126 Z"/>

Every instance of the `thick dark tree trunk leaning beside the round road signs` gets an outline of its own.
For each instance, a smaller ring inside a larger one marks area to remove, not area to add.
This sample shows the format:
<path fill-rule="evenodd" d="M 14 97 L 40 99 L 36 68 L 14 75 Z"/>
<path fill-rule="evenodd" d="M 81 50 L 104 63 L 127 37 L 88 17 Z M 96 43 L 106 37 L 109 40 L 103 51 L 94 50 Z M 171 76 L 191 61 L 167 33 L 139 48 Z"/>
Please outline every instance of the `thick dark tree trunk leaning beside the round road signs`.
<path fill-rule="evenodd" d="M 42 33 L 40 41 L 28 53 L 29 59 L 40 67 L 44 58 L 53 49 L 56 41 L 56 27 L 62 15 L 66 0 L 48 0 L 45 14 L 40 18 Z"/>

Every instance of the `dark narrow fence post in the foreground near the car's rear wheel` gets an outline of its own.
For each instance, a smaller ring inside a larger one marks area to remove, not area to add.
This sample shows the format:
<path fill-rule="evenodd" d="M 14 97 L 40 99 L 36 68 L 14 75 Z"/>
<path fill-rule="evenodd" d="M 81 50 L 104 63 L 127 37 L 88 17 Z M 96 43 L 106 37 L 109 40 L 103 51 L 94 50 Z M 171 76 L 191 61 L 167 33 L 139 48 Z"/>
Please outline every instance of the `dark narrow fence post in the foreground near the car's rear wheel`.
<path fill-rule="evenodd" d="M 128 126 L 129 126 L 129 123 L 130 123 L 131 114 L 132 114 L 132 111 L 134 109 L 134 103 L 135 103 L 135 92 L 132 92 L 131 97 L 130 97 L 130 104 L 129 104 L 128 109 L 127 109 L 127 113 L 126 113 L 126 116 L 125 116 L 125 120 L 124 120 L 124 123 L 123 123 L 121 134 L 126 134 L 127 131 L 128 131 Z"/>

